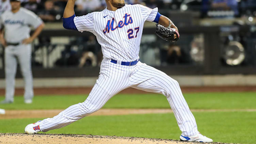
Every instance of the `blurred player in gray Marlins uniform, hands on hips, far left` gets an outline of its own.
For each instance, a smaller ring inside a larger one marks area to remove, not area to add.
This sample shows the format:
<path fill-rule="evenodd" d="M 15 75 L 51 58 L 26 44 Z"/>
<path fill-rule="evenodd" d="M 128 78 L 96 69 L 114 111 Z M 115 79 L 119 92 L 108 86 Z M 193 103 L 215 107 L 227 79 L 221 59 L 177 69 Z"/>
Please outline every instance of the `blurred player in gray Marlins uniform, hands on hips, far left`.
<path fill-rule="evenodd" d="M 17 60 L 25 80 L 24 102 L 32 103 L 33 78 L 31 71 L 31 42 L 44 28 L 43 21 L 33 12 L 20 7 L 20 0 L 11 0 L 11 11 L 0 16 L 0 35 L 4 33 L 1 44 L 5 47 L 5 100 L 13 103 Z M 36 28 L 30 36 L 30 26 Z M 4 31 L 3 31 L 4 29 Z"/>

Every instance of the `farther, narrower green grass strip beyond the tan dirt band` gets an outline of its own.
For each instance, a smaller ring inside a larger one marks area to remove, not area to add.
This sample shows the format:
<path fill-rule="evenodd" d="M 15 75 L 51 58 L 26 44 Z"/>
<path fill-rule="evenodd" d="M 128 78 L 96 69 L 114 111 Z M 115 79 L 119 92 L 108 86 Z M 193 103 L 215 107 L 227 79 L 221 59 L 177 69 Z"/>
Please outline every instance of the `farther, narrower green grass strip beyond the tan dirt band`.
<path fill-rule="evenodd" d="M 2 109 L 66 109 L 83 102 L 87 95 L 35 96 L 30 105 L 23 103 L 23 97 L 16 96 L 15 102 L 0 105 Z M 190 109 L 256 109 L 256 93 L 186 93 Z M 0 97 L 3 100 L 4 97 Z M 160 94 L 118 94 L 103 108 L 170 108 L 165 96 Z"/>

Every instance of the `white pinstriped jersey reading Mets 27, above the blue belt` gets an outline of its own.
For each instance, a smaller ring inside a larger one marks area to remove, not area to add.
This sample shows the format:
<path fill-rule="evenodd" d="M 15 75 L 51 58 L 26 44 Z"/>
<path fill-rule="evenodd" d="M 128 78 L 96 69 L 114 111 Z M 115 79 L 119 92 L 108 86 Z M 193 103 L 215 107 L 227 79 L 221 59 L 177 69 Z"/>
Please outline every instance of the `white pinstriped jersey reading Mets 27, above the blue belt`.
<path fill-rule="evenodd" d="M 139 58 L 144 22 L 154 21 L 158 8 L 135 4 L 116 11 L 107 9 L 74 18 L 78 31 L 92 32 L 101 45 L 103 58 L 134 61 Z"/>

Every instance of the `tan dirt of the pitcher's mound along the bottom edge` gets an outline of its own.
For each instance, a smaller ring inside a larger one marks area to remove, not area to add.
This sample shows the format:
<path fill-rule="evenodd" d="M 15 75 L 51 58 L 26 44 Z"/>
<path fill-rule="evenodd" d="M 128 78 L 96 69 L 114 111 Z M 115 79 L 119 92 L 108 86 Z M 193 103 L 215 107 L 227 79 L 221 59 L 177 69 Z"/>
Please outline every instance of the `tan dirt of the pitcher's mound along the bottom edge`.
<path fill-rule="evenodd" d="M 78 134 L 0 133 L 0 144 L 198 144 L 177 140 Z M 202 144 L 202 143 L 201 143 Z M 212 143 L 224 144 L 224 143 Z"/>

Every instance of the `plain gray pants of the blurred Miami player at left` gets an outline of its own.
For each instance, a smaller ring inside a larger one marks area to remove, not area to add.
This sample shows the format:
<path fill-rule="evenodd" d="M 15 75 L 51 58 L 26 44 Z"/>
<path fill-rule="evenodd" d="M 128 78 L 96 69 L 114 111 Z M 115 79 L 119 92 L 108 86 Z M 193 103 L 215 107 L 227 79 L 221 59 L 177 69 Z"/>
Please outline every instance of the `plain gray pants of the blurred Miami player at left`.
<path fill-rule="evenodd" d="M 17 62 L 19 62 L 22 76 L 25 81 L 24 98 L 32 99 L 33 78 L 31 71 L 31 44 L 20 44 L 7 46 L 5 48 L 5 100 L 14 101 L 15 75 Z"/>

